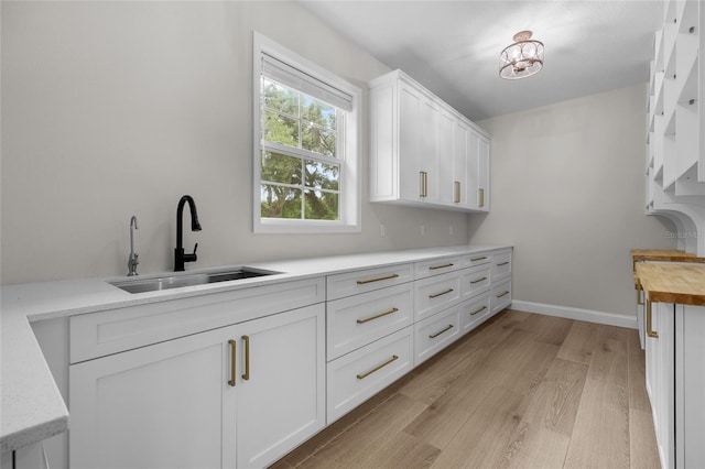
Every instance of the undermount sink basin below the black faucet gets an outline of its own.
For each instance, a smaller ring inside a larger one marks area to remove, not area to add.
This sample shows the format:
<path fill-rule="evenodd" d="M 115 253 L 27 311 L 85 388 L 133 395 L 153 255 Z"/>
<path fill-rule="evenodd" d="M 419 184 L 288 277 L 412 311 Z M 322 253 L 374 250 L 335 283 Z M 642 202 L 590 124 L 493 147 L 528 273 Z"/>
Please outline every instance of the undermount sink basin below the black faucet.
<path fill-rule="evenodd" d="M 124 290 L 128 293 L 144 293 L 156 292 L 160 290 L 181 288 L 183 286 L 206 285 L 208 283 L 252 279 L 256 276 L 273 275 L 278 273 L 281 272 L 240 268 L 235 270 L 194 272 L 171 276 L 118 280 L 108 283 L 112 286 L 117 286 L 120 290 Z"/>

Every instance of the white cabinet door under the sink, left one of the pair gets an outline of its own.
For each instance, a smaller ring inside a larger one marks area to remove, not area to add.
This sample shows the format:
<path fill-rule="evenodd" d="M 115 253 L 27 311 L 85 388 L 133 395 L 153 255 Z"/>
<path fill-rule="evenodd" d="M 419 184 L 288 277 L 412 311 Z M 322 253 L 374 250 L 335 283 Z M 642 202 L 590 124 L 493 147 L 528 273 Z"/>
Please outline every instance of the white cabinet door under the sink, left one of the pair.
<path fill-rule="evenodd" d="M 69 367 L 72 468 L 235 467 L 234 328 Z"/>

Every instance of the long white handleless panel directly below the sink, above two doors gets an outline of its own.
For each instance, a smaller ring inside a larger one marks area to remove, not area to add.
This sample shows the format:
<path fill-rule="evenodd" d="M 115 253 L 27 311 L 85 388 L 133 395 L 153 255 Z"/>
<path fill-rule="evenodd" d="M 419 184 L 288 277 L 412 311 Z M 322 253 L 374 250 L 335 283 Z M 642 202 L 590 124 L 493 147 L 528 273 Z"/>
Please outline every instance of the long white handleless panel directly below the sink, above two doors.
<path fill-rule="evenodd" d="M 70 363 L 323 302 L 318 277 L 72 316 Z"/>

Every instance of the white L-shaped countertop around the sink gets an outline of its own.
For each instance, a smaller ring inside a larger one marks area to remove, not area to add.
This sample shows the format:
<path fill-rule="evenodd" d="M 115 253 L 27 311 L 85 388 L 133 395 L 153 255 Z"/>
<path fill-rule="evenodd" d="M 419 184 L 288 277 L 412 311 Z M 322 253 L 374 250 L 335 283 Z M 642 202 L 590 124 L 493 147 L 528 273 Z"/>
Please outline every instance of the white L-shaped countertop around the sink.
<path fill-rule="evenodd" d="M 247 266 L 281 274 L 130 294 L 107 281 L 126 277 L 85 279 L 3 285 L 0 293 L 1 416 L 0 449 L 14 450 L 68 428 L 68 411 L 52 378 L 30 323 L 105 309 L 176 299 L 209 293 L 247 288 L 296 279 L 329 275 L 430 259 L 510 248 L 497 244 L 383 251 L 317 259 L 248 263 Z M 223 269 L 227 269 L 224 266 Z M 192 270 L 187 273 L 198 272 Z M 174 275 L 173 272 L 161 273 Z M 141 275 L 140 279 L 160 276 Z"/>

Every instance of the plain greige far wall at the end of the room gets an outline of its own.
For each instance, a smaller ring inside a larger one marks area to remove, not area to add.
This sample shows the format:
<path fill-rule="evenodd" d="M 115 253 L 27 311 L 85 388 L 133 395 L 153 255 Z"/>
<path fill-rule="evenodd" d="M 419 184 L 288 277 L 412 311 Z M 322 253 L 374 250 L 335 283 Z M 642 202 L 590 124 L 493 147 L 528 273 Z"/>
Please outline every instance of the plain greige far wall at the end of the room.
<path fill-rule="evenodd" d="M 514 246 L 516 299 L 633 316 L 630 249 L 675 247 L 673 227 L 643 215 L 646 96 L 638 85 L 478 122 L 492 134 L 492 206 L 468 233 Z"/>

